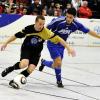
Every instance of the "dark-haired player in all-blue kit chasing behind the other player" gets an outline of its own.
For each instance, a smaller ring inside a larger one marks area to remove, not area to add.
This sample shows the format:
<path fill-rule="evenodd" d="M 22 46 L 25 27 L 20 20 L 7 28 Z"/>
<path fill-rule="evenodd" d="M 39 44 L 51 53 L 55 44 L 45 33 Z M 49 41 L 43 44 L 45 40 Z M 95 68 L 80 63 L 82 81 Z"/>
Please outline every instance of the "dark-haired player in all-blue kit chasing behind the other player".
<path fill-rule="evenodd" d="M 52 30 L 56 35 L 59 35 L 65 41 L 67 40 L 68 36 L 76 30 L 88 33 L 96 38 L 100 38 L 100 36 L 97 35 L 94 31 L 91 31 L 90 29 L 86 28 L 83 24 L 78 22 L 75 19 L 75 16 L 75 8 L 69 8 L 66 13 L 66 17 L 61 16 L 56 19 L 53 19 L 47 27 L 48 29 Z M 63 59 L 64 47 L 59 43 L 55 45 L 51 41 L 47 42 L 47 47 L 53 61 L 47 61 L 42 59 L 39 70 L 42 71 L 44 66 L 54 68 L 57 79 L 57 85 L 58 87 L 63 87 L 61 80 L 61 63 Z"/>

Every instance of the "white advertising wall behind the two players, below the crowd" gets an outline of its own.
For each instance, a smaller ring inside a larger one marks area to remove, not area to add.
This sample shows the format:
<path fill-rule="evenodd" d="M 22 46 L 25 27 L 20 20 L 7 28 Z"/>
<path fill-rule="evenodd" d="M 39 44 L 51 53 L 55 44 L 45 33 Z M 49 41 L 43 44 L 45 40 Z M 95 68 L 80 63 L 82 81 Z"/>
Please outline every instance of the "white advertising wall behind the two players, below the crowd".
<path fill-rule="evenodd" d="M 47 25 L 54 17 L 46 16 L 46 24 Z M 1 27 L 0 28 L 0 43 L 5 41 L 7 37 L 15 34 L 16 32 L 22 30 L 25 26 L 33 24 L 35 20 L 35 16 L 24 15 L 17 21 Z M 78 19 L 81 23 L 83 23 L 86 27 L 90 28 L 93 31 L 98 32 L 100 34 L 100 19 Z M 21 39 L 17 39 L 14 43 L 21 43 Z M 73 45 L 80 46 L 100 46 L 100 40 L 94 37 L 91 37 L 87 34 L 83 34 L 82 32 L 76 31 L 72 33 L 68 39 L 68 42 Z"/>

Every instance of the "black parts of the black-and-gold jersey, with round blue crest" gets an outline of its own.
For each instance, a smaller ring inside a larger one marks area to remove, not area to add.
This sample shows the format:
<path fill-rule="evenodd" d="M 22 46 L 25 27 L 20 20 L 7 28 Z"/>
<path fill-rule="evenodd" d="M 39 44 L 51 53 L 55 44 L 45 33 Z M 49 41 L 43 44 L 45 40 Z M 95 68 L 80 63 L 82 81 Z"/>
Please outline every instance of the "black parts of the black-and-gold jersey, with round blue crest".
<path fill-rule="evenodd" d="M 23 42 L 24 46 L 28 46 L 28 47 L 34 47 L 35 46 L 36 47 L 36 46 L 39 46 L 39 45 L 43 45 L 44 40 L 38 35 L 31 35 L 31 34 L 39 33 L 41 31 L 36 31 L 34 29 L 34 25 L 30 25 L 30 26 L 25 27 L 25 29 L 23 29 L 21 32 L 16 33 L 15 36 L 17 38 L 26 37 L 24 42 Z M 29 35 L 29 36 L 27 36 L 27 35 Z"/>

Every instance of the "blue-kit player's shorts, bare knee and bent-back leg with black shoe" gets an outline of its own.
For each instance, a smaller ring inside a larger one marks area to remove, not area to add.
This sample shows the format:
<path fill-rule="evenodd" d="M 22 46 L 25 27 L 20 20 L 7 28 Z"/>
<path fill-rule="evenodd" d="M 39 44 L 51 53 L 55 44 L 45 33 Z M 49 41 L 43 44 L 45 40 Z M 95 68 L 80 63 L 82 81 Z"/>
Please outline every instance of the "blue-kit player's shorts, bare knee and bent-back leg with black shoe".
<path fill-rule="evenodd" d="M 61 66 L 62 63 L 62 55 L 63 55 L 63 51 L 64 48 L 60 48 L 56 45 L 54 46 L 47 46 L 50 56 L 53 59 L 53 61 L 47 61 L 42 59 L 41 60 L 41 66 L 39 67 L 39 70 L 42 71 L 44 66 L 50 67 L 50 68 L 56 68 Z"/>

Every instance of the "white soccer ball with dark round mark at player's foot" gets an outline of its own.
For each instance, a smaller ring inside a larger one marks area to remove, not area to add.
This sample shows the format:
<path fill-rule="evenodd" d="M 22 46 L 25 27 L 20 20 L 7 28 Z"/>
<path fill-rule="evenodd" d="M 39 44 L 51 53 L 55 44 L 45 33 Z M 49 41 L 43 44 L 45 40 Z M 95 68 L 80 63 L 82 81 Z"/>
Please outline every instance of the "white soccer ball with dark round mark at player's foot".
<path fill-rule="evenodd" d="M 18 88 L 27 83 L 26 77 L 22 74 L 17 75 L 13 81 L 18 85 Z"/>

